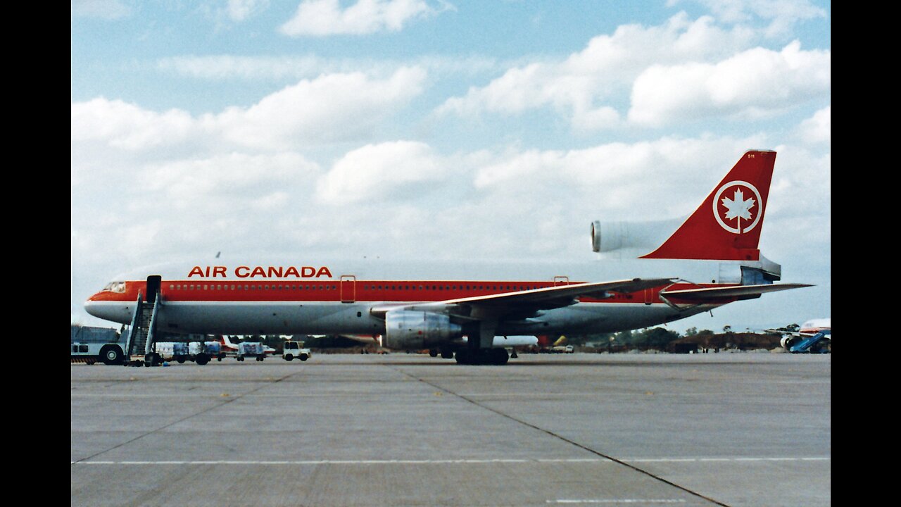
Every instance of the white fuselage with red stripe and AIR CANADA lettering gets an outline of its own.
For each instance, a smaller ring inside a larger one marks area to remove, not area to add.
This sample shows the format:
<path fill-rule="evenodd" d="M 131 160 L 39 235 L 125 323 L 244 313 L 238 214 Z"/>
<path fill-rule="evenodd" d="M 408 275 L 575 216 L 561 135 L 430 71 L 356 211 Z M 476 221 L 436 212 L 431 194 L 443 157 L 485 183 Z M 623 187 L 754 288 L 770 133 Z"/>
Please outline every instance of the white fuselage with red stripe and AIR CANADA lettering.
<path fill-rule="evenodd" d="M 147 277 L 159 275 L 160 331 L 375 336 L 385 332 L 384 318 L 370 312 L 375 307 L 399 308 L 414 302 L 617 278 L 672 277 L 687 287 L 734 285 L 742 281 L 741 264 L 597 258 L 566 263 L 389 263 L 370 259 L 327 264 L 180 264 L 123 275 L 116 282 L 124 283 L 111 284 L 118 291 L 97 293 L 86 302 L 86 310 L 99 318 L 130 323 L 137 294 L 146 290 Z M 614 332 L 650 327 L 718 306 L 674 309 L 657 296 L 663 288 L 616 294 L 605 300 L 581 298 L 570 306 L 501 318 L 496 335 Z"/>

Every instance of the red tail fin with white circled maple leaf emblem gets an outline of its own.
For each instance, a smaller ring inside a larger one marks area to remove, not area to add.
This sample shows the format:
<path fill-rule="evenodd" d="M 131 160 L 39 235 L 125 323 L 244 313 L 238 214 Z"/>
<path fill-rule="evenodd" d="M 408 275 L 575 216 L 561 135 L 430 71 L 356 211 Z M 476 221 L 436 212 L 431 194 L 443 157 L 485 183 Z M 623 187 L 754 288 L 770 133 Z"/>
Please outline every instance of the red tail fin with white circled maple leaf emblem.
<path fill-rule="evenodd" d="M 758 261 L 776 152 L 749 151 L 657 250 L 644 259 Z"/>

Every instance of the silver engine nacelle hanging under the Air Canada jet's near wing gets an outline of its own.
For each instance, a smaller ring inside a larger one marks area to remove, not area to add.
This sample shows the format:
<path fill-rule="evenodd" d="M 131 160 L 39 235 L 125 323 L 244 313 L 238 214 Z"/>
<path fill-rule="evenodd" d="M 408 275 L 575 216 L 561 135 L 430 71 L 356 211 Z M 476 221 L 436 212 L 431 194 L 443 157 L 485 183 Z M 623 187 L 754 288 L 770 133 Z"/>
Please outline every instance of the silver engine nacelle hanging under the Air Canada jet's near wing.
<path fill-rule="evenodd" d="M 393 310 L 385 314 L 382 346 L 394 349 L 429 348 L 463 335 L 460 324 L 441 313 Z"/>

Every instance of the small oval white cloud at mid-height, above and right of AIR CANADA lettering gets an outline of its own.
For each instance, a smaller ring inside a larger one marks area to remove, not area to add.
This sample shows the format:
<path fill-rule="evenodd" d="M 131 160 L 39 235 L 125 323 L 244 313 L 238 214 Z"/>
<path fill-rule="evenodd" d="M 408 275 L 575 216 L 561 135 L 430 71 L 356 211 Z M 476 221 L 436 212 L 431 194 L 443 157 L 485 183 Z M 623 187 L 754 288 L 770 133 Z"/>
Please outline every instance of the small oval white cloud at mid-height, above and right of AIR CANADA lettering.
<path fill-rule="evenodd" d="M 396 141 L 368 144 L 346 153 L 319 180 L 316 197 L 327 203 L 384 201 L 411 183 L 444 177 L 444 163 L 424 143 Z"/>

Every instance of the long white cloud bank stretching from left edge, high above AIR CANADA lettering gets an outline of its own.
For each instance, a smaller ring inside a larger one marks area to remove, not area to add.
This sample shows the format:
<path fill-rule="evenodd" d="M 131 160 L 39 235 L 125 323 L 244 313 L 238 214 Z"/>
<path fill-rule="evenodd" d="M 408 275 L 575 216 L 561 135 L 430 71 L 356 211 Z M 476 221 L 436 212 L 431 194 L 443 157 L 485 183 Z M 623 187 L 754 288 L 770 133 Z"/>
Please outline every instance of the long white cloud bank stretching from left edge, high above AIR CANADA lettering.
<path fill-rule="evenodd" d="M 172 109 L 156 113 L 99 97 L 72 104 L 72 141 L 101 142 L 131 151 L 196 139 L 230 146 L 286 150 L 365 138 L 376 125 L 422 92 L 423 69 L 402 68 L 387 78 L 363 73 L 305 79 L 250 107 L 192 117 Z"/>

